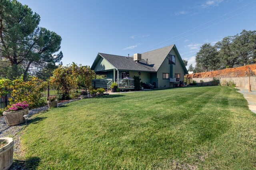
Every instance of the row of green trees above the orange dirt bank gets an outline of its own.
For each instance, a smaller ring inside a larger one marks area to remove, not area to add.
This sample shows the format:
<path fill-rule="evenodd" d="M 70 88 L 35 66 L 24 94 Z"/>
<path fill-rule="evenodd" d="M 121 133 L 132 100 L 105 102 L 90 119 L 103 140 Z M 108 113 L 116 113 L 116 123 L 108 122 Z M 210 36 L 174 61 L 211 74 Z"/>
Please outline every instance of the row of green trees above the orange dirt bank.
<path fill-rule="evenodd" d="M 256 63 L 256 31 L 224 37 L 215 45 L 203 44 L 196 54 L 194 72 L 233 68 Z"/>

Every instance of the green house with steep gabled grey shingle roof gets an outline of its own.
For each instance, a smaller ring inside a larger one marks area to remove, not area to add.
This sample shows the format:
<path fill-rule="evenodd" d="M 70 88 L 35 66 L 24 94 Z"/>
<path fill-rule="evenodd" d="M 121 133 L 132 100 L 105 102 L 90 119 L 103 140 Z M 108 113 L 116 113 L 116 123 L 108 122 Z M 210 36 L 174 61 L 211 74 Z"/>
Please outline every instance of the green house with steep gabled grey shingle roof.
<path fill-rule="evenodd" d="M 106 75 L 106 80 L 94 80 L 94 86 L 109 87 L 112 82 L 118 82 L 121 90 L 134 88 L 133 76 L 140 76 L 141 82 L 153 84 L 155 88 L 164 88 L 183 82 L 188 74 L 176 45 L 131 57 L 98 53 L 91 69 Z"/>

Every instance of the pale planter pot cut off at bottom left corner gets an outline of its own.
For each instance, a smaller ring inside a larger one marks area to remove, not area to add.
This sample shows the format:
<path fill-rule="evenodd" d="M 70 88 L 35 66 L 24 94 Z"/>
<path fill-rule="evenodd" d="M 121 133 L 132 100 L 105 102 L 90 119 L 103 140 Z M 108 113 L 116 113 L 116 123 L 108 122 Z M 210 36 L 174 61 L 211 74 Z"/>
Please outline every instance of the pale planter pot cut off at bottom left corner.
<path fill-rule="evenodd" d="M 14 141 L 11 137 L 0 138 L 0 142 L 6 141 L 4 147 L 0 148 L 0 170 L 8 170 L 13 162 Z"/>

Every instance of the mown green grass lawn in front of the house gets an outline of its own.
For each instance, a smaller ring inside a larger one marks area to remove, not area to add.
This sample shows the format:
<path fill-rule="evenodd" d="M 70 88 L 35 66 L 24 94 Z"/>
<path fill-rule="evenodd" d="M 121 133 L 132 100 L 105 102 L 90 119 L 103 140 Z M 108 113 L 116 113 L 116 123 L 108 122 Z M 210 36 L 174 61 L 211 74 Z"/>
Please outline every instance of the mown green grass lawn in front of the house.
<path fill-rule="evenodd" d="M 223 86 L 79 100 L 36 115 L 21 140 L 27 168 L 256 168 L 256 115 Z"/>

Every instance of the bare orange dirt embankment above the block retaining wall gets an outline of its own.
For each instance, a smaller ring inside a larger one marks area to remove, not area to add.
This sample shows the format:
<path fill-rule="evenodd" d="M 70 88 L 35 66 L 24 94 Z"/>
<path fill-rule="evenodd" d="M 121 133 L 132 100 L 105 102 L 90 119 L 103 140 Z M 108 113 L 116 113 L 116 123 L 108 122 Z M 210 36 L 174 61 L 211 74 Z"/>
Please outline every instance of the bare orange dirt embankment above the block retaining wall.
<path fill-rule="evenodd" d="M 226 68 L 223 70 L 216 70 L 216 71 L 208 71 L 208 72 L 199 72 L 195 74 L 188 74 L 188 78 L 210 78 L 210 77 L 243 77 L 247 76 L 245 71 L 248 72 L 248 68 L 253 72 L 253 75 L 256 74 L 256 64 L 240 66 L 236 68 Z"/>

